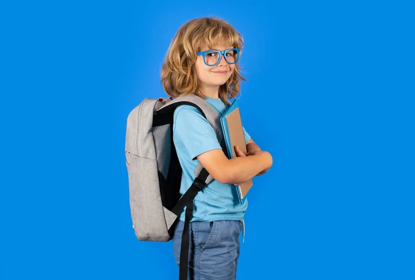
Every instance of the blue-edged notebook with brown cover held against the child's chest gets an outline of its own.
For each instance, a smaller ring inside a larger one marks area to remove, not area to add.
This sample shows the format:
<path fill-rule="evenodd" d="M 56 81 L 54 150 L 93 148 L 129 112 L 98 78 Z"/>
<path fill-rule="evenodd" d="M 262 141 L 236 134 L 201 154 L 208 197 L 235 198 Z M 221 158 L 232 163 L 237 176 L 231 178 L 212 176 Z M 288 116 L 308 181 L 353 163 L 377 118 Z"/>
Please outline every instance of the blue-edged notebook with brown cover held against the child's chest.
<path fill-rule="evenodd" d="M 241 121 L 241 113 L 239 111 L 238 101 L 234 100 L 228 109 L 221 116 L 221 124 L 223 137 L 225 138 L 226 149 L 228 150 L 228 158 L 236 158 L 237 155 L 233 149 L 235 145 L 246 153 L 245 136 L 243 135 L 243 127 Z M 236 186 L 239 203 L 243 203 L 246 194 L 252 187 L 252 179 L 241 185 Z"/>

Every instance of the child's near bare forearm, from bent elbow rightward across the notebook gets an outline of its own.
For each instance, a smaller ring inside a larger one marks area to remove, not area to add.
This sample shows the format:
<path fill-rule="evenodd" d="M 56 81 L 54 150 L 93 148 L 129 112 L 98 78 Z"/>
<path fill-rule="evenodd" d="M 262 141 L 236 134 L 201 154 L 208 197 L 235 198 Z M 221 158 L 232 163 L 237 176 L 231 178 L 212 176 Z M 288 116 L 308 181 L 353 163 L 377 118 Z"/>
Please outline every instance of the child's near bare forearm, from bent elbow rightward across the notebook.
<path fill-rule="evenodd" d="M 255 156 L 237 157 L 228 161 L 227 174 L 230 184 L 246 182 L 264 171 L 273 164 L 273 159 L 268 152 Z"/>

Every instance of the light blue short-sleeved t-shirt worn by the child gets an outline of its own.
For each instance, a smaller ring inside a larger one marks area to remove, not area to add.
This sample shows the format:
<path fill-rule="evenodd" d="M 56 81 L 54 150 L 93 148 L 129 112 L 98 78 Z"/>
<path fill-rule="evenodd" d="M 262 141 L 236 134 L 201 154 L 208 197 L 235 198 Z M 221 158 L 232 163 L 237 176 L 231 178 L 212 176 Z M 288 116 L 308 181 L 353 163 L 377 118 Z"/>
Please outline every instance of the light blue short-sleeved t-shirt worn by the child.
<path fill-rule="evenodd" d="M 223 115 L 228 108 L 220 98 L 206 97 L 205 101 L 212 105 L 219 115 Z M 194 170 L 199 163 L 196 156 L 206 151 L 222 149 L 222 147 L 208 120 L 203 118 L 199 110 L 193 106 L 178 106 L 174 111 L 173 118 L 173 141 L 183 169 L 180 188 L 180 194 L 183 196 L 194 181 Z M 245 134 L 245 142 L 248 142 L 250 136 L 245 129 L 243 129 L 243 133 Z M 243 204 L 239 203 L 237 189 L 234 185 L 213 180 L 194 199 L 194 212 L 191 221 L 240 221 L 243 219 L 247 207 L 248 199 L 245 199 Z M 180 220 L 185 221 L 185 209 L 181 213 Z"/>

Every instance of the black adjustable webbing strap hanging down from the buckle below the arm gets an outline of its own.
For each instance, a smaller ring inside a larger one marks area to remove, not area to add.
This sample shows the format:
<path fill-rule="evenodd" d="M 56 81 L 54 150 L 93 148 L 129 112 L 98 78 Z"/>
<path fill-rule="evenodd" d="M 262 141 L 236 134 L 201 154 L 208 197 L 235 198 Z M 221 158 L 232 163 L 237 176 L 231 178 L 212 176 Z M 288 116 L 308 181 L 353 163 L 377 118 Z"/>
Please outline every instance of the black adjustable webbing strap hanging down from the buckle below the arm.
<path fill-rule="evenodd" d="M 208 178 L 209 173 L 206 169 L 202 169 L 199 176 L 194 179 L 192 186 L 187 190 L 187 192 L 182 196 L 178 201 L 176 206 L 172 209 L 172 212 L 176 215 L 180 214 L 181 210 L 186 207 L 185 212 L 185 225 L 183 227 L 182 241 L 181 241 L 181 252 L 180 252 L 180 267 L 179 267 L 179 280 L 187 280 L 187 270 L 189 268 L 189 245 L 190 245 L 190 220 L 193 215 L 193 200 L 196 195 L 206 187 L 206 178 Z"/>

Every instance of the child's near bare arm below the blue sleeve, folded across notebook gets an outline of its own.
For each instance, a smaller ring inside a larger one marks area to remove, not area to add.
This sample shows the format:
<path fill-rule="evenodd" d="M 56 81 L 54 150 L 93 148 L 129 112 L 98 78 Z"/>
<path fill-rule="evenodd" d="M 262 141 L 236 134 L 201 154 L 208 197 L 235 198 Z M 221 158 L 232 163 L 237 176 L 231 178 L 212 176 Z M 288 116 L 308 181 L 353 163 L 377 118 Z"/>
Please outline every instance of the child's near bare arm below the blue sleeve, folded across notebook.
<path fill-rule="evenodd" d="M 229 160 L 221 149 L 215 149 L 197 158 L 215 180 L 224 184 L 246 182 L 273 165 L 273 158 L 266 151 Z"/>

